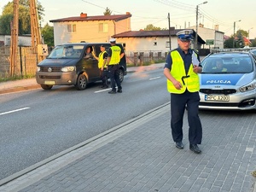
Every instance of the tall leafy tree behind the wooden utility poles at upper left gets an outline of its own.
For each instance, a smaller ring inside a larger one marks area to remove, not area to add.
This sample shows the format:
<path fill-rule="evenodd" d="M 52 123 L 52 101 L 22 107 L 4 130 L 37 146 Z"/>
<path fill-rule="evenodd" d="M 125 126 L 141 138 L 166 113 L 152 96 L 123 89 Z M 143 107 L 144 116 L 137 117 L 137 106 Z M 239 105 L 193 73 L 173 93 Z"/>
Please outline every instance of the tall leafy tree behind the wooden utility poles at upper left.
<path fill-rule="evenodd" d="M 31 33 L 30 22 L 30 2 L 29 0 L 20 0 L 19 2 L 19 34 Z M 41 3 L 37 2 L 38 19 L 43 20 L 44 8 Z M 10 22 L 14 18 L 14 1 L 7 3 L 3 6 L 3 13 L 0 16 L 1 34 L 10 34 Z"/>

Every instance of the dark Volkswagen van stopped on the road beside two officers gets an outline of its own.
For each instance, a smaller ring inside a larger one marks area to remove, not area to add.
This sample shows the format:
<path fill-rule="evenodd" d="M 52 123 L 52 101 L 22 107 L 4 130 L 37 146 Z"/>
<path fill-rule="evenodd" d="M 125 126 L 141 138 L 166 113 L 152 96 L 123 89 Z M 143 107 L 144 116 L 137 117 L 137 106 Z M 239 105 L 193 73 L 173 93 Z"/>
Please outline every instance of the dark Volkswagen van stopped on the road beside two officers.
<path fill-rule="evenodd" d="M 111 45 L 102 44 L 105 45 L 108 52 Z M 78 43 L 55 46 L 47 58 L 38 63 L 37 83 L 44 90 L 50 90 L 54 85 L 74 85 L 77 90 L 84 90 L 87 84 L 101 80 L 98 61 L 91 53 L 86 54 L 86 50 L 93 50 L 95 55 L 99 55 L 102 44 Z M 122 44 L 116 45 L 124 49 Z M 119 79 L 121 82 L 126 74 L 124 56 L 119 62 Z"/>

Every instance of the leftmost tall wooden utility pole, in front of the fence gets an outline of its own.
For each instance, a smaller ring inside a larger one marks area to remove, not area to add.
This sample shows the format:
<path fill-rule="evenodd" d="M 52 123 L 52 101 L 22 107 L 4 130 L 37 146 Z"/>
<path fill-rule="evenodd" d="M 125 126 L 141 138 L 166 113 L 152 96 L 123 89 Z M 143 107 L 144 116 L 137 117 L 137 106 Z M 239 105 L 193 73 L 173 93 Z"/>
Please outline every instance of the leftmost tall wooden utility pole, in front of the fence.
<path fill-rule="evenodd" d="M 18 35 L 19 35 L 19 0 L 14 0 L 14 20 L 10 24 L 11 27 L 11 46 L 10 46 L 10 65 L 9 76 L 15 74 L 15 65 L 17 63 Z"/>

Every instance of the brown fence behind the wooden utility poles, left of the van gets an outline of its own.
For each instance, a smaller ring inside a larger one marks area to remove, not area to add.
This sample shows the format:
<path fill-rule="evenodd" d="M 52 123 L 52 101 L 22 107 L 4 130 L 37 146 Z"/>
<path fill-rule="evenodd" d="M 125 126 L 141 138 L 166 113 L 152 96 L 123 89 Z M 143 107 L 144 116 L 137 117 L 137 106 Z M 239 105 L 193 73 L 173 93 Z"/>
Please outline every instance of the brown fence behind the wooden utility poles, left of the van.
<path fill-rule="evenodd" d="M 9 77 L 10 47 L 0 47 L 0 78 Z M 36 49 L 32 47 L 18 47 L 17 62 L 14 66 L 15 76 L 35 75 L 38 63 Z"/>

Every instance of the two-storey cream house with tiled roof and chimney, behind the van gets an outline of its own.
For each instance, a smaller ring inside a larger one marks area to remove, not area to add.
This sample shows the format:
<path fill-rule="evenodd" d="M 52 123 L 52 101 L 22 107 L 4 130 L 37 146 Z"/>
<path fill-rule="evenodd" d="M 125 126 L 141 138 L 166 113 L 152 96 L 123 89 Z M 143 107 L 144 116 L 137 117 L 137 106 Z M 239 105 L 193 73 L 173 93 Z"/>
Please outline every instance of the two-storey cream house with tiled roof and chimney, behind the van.
<path fill-rule="evenodd" d="M 77 42 L 108 42 L 114 34 L 131 31 L 131 14 L 79 16 L 49 20 L 54 26 L 55 45 Z"/>

